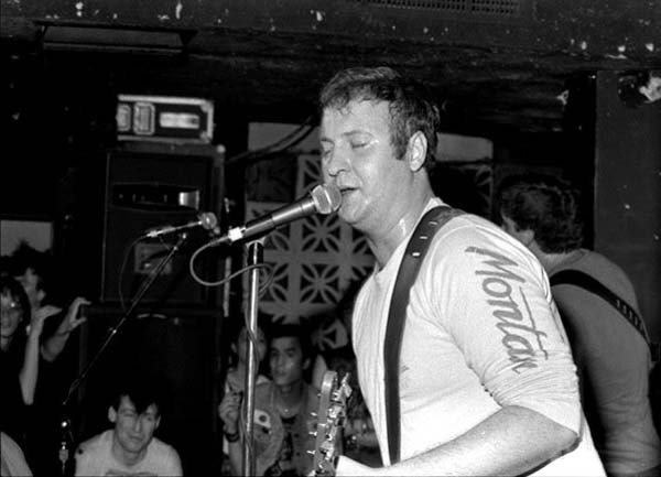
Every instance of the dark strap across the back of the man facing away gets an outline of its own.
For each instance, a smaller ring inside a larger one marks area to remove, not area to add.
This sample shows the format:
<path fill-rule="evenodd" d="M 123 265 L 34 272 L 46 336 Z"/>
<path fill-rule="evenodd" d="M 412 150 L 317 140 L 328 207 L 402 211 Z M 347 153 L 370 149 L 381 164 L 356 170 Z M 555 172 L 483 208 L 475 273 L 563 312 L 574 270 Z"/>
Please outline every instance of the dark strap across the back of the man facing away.
<path fill-rule="evenodd" d="M 551 286 L 561 284 L 574 285 L 584 289 L 590 293 L 594 293 L 597 296 L 600 296 L 615 310 L 617 310 L 620 313 L 620 315 L 622 315 L 625 319 L 627 319 L 627 322 L 629 322 L 629 324 L 633 326 L 638 333 L 640 333 L 640 335 L 642 335 L 642 337 L 650 347 L 652 361 L 659 361 L 661 355 L 659 344 L 650 343 L 642 319 L 640 318 L 638 313 L 636 313 L 636 310 L 633 310 L 632 306 L 630 306 L 627 302 L 620 299 L 613 290 L 610 290 L 604 283 L 579 270 L 561 270 L 560 272 L 554 273 L 550 278 L 550 282 Z"/>

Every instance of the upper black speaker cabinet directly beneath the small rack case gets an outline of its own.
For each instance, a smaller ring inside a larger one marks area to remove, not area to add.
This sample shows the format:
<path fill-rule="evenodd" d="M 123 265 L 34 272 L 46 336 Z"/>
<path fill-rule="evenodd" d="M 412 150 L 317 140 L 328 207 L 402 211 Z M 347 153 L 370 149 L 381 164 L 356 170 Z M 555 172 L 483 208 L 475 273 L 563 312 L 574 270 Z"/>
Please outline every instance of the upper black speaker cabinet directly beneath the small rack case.
<path fill-rule="evenodd" d="M 177 151 L 110 151 L 80 167 L 74 212 L 65 215 L 63 234 L 65 256 L 76 264 L 76 294 L 101 304 L 128 302 L 180 237 L 144 234 L 220 209 L 223 170 L 215 150 Z M 191 253 L 208 239 L 208 230 L 191 228 L 141 303 L 214 306 L 216 291 L 199 285 L 188 272 Z M 196 263 L 205 278 L 215 277 L 217 268 L 209 258 Z"/>

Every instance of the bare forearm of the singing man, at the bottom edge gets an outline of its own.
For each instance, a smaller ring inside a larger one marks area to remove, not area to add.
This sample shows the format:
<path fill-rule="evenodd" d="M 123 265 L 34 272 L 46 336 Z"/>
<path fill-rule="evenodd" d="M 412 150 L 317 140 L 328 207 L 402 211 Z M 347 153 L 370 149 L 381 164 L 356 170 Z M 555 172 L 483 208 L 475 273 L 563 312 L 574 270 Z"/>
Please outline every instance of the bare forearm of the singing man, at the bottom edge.
<path fill-rule="evenodd" d="M 576 434 L 521 406 L 508 406 L 462 436 L 391 467 L 340 457 L 337 475 L 520 475 L 570 449 Z"/>

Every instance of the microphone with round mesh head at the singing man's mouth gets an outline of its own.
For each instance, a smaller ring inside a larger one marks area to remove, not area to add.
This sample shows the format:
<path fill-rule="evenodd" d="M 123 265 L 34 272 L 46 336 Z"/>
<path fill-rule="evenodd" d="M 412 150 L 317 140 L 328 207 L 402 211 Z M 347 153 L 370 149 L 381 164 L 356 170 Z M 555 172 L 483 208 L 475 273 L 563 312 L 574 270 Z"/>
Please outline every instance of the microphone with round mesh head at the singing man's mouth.
<path fill-rule="evenodd" d="M 310 196 L 300 198 L 293 204 L 266 214 L 240 227 L 235 227 L 223 237 L 210 241 L 210 246 L 234 243 L 239 240 L 261 237 L 290 221 L 307 217 L 315 213 L 330 214 L 339 208 L 342 194 L 339 188 L 330 184 L 319 184 L 312 189 Z"/>

